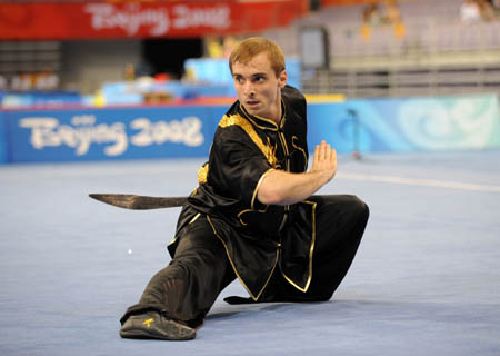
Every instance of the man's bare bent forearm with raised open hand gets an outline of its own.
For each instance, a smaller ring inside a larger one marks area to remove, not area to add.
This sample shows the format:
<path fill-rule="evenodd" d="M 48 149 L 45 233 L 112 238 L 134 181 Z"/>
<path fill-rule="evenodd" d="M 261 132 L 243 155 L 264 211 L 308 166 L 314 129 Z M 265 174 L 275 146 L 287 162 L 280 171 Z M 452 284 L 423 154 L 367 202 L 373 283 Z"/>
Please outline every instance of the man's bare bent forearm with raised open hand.
<path fill-rule="evenodd" d="M 273 170 L 262 180 L 257 198 L 264 205 L 302 201 L 329 182 L 337 172 L 337 151 L 321 141 L 314 149 L 312 167 L 303 174 Z"/>

